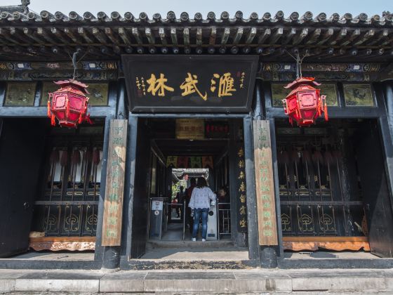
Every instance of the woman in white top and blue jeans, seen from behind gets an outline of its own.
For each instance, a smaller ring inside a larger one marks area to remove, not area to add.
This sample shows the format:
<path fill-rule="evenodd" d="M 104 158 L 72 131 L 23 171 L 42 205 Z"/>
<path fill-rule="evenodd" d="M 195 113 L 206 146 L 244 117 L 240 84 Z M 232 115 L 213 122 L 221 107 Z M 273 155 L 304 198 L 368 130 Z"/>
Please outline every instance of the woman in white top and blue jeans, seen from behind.
<path fill-rule="evenodd" d="M 202 242 L 206 241 L 208 232 L 208 211 L 211 202 L 215 202 L 215 194 L 208 187 L 206 179 L 198 178 L 196 188 L 192 190 L 191 199 L 189 200 L 189 208 L 194 211 L 194 225 L 192 228 L 192 241 L 196 241 L 196 235 L 199 228 L 199 218 L 202 218 Z"/>

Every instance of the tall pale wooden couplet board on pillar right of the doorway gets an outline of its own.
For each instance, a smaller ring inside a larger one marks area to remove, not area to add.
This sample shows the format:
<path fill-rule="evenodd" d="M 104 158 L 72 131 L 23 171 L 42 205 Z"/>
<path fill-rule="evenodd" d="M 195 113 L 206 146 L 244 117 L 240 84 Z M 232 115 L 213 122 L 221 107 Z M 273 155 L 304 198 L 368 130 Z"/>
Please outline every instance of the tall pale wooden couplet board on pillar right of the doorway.
<path fill-rule="evenodd" d="M 261 246 L 277 245 L 272 144 L 268 120 L 253 122 L 253 138 L 259 244 Z"/>

